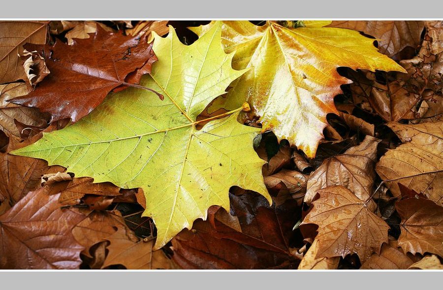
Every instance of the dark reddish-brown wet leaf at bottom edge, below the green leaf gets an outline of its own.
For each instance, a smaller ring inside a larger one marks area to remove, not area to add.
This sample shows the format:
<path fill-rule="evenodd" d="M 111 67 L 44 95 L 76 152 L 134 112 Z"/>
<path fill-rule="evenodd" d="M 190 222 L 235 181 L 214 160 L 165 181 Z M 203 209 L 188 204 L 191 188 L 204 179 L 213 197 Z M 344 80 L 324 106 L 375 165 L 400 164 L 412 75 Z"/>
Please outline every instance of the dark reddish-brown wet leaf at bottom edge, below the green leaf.
<path fill-rule="evenodd" d="M 265 269 L 290 268 L 298 264 L 289 248 L 297 204 L 287 201 L 269 206 L 263 196 L 230 194 L 232 215 L 237 223 L 197 220 L 191 230 L 181 231 L 173 240 L 174 261 L 184 269 Z M 229 215 L 229 213 L 224 213 Z M 234 226 L 229 226 L 229 225 Z M 233 255 L 235 253 L 235 255 Z"/>

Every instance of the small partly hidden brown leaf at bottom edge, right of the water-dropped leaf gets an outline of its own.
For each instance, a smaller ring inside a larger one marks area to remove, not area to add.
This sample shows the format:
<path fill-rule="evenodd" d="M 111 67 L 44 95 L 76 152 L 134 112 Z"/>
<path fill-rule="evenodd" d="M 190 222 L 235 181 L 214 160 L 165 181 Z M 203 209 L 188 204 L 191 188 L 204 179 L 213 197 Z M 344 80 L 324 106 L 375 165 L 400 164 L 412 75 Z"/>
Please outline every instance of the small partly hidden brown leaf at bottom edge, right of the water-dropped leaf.
<path fill-rule="evenodd" d="M 380 255 L 372 254 L 360 267 L 360 269 L 408 269 L 413 261 L 402 251 L 387 244 L 381 247 Z"/>

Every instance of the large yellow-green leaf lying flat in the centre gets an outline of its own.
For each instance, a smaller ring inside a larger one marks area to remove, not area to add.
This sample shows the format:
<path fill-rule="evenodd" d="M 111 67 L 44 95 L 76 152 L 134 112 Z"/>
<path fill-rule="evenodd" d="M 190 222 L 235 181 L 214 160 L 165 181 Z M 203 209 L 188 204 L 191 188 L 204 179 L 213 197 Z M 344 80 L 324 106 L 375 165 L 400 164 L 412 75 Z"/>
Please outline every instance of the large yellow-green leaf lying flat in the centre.
<path fill-rule="evenodd" d="M 110 181 L 122 188 L 142 188 L 144 216 L 154 220 L 155 249 L 166 244 L 211 205 L 229 211 L 228 190 L 239 186 L 264 195 L 265 161 L 253 150 L 259 129 L 237 122 L 242 108 L 210 118 L 200 130 L 196 117 L 245 70 L 231 67 L 233 54 L 221 47 L 221 25 L 190 46 L 170 27 L 166 38 L 155 35 L 158 62 L 141 85 L 162 92 L 163 101 L 140 89 L 110 94 L 75 125 L 45 133 L 13 154 L 59 164 L 76 177 Z"/>

